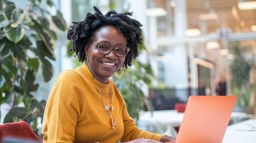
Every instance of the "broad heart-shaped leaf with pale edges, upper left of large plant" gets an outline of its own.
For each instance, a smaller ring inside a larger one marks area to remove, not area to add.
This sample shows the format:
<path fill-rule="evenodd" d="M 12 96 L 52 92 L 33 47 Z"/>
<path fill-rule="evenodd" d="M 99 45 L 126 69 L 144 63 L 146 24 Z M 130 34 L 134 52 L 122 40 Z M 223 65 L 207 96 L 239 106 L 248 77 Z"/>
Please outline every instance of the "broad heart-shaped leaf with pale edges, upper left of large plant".
<path fill-rule="evenodd" d="M 4 33 L 5 33 L 5 36 L 7 36 L 7 38 L 10 41 L 17 43 L 21 41 L 21 39 L 23 38 L 25 29 L 21 25 L 18 25 L 16 28 L 13 28 L 9 24 L 4 27 Z"/>

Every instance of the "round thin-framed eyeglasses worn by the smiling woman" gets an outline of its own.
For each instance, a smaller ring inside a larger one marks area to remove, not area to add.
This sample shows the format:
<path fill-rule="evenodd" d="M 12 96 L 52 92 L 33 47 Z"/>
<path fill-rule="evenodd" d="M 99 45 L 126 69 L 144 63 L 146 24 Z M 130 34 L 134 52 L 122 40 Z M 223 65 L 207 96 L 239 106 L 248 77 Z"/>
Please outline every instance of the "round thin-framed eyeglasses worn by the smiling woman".
<path fill-rule="evenodd" d="M 118 46 L 112 47 L 109 44 L 103 43 L 103 42 L 98 42 L 98 43 L 92 42 L 92 43 L 94 44 L 95 48 L 98 49 L 98 52 L 100 52 L 100 54 L 103 54 L 103 55 L 109 54 L 112 51 L 112 49 L 114 49 L 114 52 L 118 57 L 125 57 L 129 52 L 129 48 L 127 48 L 124 45 L 118 45 Z"/>

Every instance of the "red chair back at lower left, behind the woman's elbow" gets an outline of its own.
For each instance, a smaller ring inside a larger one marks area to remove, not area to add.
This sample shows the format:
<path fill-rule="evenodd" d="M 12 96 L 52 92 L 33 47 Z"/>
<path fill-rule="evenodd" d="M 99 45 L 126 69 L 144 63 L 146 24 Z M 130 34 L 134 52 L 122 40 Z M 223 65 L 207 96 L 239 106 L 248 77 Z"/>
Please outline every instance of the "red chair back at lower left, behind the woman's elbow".
<path fill-rule="evenodd" d="M 0 125 L 0 142 L 7 142 L 8 139 L 16 142 L 42 142 L 42 139 L 24 121 Z"/>

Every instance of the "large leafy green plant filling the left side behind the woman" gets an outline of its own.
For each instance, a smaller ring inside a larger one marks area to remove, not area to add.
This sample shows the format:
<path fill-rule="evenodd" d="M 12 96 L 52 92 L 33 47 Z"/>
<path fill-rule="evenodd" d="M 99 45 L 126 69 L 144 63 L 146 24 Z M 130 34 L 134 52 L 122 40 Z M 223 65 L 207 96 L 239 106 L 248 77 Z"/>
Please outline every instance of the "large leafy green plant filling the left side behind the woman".
<path fill-rule="evenodd" d="M 55 60 L 57 35 L 50 23 L 62 31 L 67 26 L 53 1 L 24 2 L 26 7 L 20 8 L 12 1 L 0 1 L 0 104 L 8 102 L 11 108 L 4 123 L 25 120 L 36 131 L 46 102 L 35 98 L 36 74 L 41 71 L 48 82 L 54 70 L 50 61 Z M 50 9 L 56 14 L 51 15 Z"/>

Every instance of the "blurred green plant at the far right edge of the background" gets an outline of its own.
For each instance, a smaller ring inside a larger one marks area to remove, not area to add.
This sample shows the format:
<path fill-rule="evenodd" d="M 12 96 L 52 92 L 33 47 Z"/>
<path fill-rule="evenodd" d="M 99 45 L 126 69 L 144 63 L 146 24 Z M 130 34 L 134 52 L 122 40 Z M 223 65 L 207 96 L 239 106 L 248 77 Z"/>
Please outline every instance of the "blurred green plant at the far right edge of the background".
<path fill-rule="evenodd" d="M 236 101 L 236 111 L 254 113 L 251 104 L 251 97 L 256 91 L 254 83 L 250 83 L 250 72 L 254 68 L 254 58 L 249 60 L 245 57 L 239 43 L 235 42 L 233 46 L 234 60 L 231 64 L 233 93 L 238 96 Z"/>

